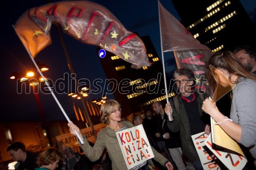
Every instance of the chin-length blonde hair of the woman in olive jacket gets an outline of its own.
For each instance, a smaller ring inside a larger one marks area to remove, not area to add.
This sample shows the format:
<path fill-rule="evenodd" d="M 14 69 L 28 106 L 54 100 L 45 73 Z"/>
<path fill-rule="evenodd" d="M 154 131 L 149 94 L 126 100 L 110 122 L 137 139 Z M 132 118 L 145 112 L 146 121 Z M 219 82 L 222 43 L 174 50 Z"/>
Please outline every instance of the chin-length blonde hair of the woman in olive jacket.
<path fill-rule="evenodd" d="M 101 122 L 105 125 L 110 124 L 109 116 L 114 107 L 120 107 L 120 104 L 115 100 L 106 101 L 100 108 Z"/>

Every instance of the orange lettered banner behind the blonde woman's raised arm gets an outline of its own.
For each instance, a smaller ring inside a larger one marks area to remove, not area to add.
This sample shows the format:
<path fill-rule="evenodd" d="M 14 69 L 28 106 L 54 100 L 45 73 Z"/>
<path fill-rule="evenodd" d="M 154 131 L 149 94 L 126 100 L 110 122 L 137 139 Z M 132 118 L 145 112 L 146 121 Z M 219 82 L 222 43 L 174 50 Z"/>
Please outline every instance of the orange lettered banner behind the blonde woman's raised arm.
<path fill-rule="evenodd" d="M 95 129 L 95 132 L 98 134 L 98 132 L 101 129 L 105 128 L 105 124 L 101 123 L 98 125 L 94 125 L 93 127 Z M 86 136 L 86 138 L 89 142 L 95 143 L 96 138 L 93 134 L 91 127 L 81 129 L 81 133 L 84 136 Z M 59 149 L 62 148 L 62 150 L 63 150 L 65 147 L 70 147 L 74 152 L 83 154 L 83 152 L 80 152 L 81 150 L 80 150 L 80 145 L 77 141 L 77 137 L 72 135 L 71 133 L 66 133 L 63 135 L 56 136 L 56 139 L 58 140 Z"/>

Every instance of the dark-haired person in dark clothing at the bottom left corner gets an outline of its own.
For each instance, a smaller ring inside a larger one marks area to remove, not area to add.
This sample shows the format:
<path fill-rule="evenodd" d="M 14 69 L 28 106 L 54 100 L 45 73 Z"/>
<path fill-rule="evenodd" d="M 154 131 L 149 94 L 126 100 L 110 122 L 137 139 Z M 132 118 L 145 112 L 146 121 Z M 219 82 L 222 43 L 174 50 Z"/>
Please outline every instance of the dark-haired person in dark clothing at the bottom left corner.
<path fill-rule="evenodd" d="M 13 142 L 7 148 L 7 152 L 11 158 L 18 163 L 15 164 L 17 170 L 34 170 L 36 165 L 36 158 L 38 153 L 32 153 L 26 151 L 25 144 L 22 142 Z"/>

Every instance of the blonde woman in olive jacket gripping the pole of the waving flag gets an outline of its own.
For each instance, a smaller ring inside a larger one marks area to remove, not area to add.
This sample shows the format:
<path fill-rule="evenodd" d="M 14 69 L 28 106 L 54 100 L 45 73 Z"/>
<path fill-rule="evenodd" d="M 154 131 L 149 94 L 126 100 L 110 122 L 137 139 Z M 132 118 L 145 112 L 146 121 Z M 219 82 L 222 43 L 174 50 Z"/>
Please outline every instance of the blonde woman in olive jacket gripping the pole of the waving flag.
<path fill-rule="evenodd" d="M 81 145 L 81 148 L 86 154 L 86 156 L 91 161 L 98 160 L 104 149 L 108 150 L 110 159 L 112 161 L 112 168 L 115 169 L 127 169 L 125 160 L 122 155 L 120 145 L 117 140 L 116 132 L 132 128 L 132 123 L 128 121 L 121 122 L 121 108 L 120 104 L 115 100 L 106 101 L 100 109 L 101 121 L 106 124 L 106 128 L 102 129 L 97 136 L 96 142 L 93 147 L 89 145 L 86 137 L 82 135 L 80 129 L 73 123 L 69 123 L 71 134 L 75 135 L 75 131 L 78 132 L 79 136 L 82 138 L 84 144 Z M 154 159 L 160 162 L 162 165 L 165 165 L 167 169 L 173 169 L 173 165 L 161 154 L 159 154 L 153 147 Z M 133 169 L 148 169 L 150 166 L 148 163 L 154 167 L 152 160 L 145 161 Z"/>

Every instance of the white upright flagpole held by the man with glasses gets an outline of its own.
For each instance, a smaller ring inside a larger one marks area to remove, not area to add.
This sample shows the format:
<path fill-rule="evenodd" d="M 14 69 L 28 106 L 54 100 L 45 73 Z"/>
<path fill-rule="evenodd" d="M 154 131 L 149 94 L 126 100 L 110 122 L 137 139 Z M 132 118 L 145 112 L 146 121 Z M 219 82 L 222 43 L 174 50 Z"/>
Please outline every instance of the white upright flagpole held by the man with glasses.
<path fill-rule="evenodd" d="M 169 101 L 168 101 L 167 83 L 166 83 L 166 76 L 165 76 L 164 58 L 163 58 L 163 41 L 162 41 L 161 17 L 160 17 L 160 1 L 159 1 L 159 0 L 158 0 L 158 16 L 159 16 L 160 41 L 161 41 L 161 55 L 162 55 L 162 63 L 163 63 L 163 78 L 164 78 L 164 87 L 165 87 L 166 103 L 169 103 Z M 170 113 L 168 113 L 168 117 L 169 117 L 169 121 L 171 121 L 172 118 L 170 117 Z"/>

